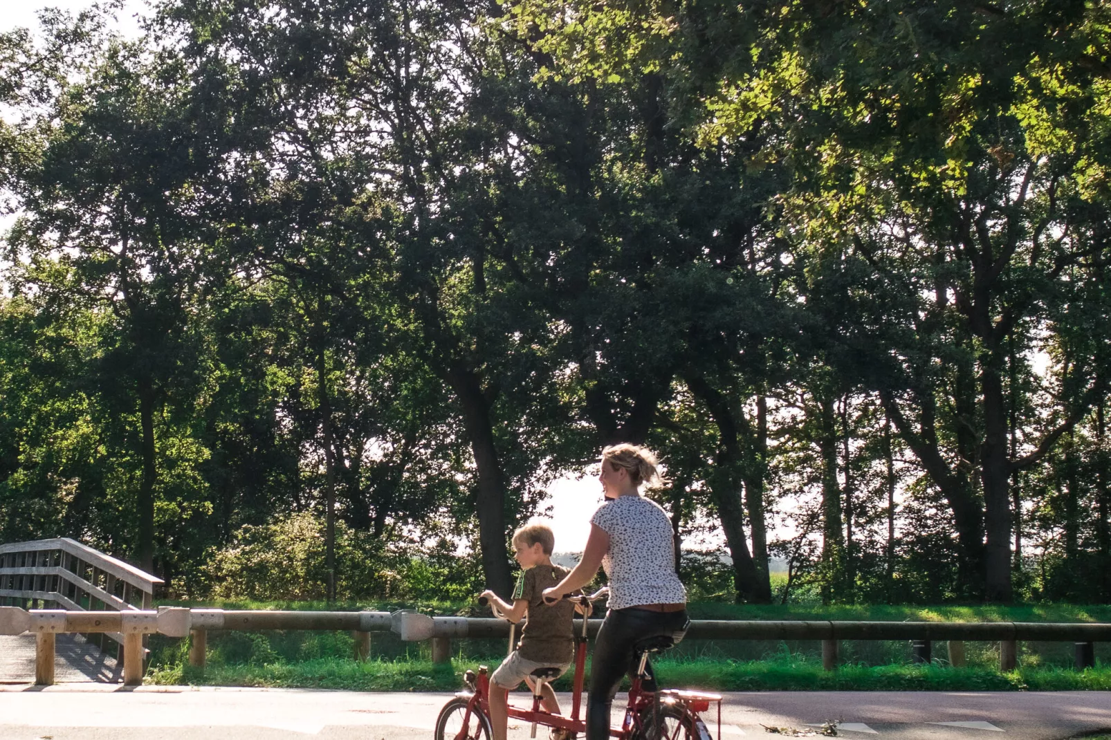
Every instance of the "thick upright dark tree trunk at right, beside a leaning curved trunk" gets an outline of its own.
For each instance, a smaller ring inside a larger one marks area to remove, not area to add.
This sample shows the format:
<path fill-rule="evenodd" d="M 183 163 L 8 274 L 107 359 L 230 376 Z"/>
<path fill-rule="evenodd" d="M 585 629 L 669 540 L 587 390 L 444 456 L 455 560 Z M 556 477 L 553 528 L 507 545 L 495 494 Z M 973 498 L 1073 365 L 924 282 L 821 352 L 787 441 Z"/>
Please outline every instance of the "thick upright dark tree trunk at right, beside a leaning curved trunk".
<path fill-rule="evenodd" d="M 1007 454 L 1007 403 L 998 353 L 980 359 L 980 393 L 983 398 L 984 436 L 980 446 L 983 483 L 984 584 L 990 601 L 1010 602 L 1011 592 L 1011 463 Z"/>

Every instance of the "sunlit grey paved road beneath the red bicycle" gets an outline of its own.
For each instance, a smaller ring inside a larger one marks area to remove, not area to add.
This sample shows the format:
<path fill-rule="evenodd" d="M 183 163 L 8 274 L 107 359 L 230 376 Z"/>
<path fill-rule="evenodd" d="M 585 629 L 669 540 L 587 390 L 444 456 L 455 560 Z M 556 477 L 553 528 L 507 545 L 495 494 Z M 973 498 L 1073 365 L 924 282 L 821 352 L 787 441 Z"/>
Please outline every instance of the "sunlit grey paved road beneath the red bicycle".
<path fill-rule="evenodd" d="M 430 740 L 447 693 L 60 684 L 0 687 L 4 740 Z M 514 694 L 524 701 L 526 694 Z M 623 697 L 619 697 L 619 700 Z M 561 694 L 563 707 L 569 698 Z M 715 718 L 714 718 L 715 719 Z M 1111 692 L 735 692 L 720 740 L 840 719 L 859 740 L 1062 740 L 1111 729 Z M 717 737 L 714 727 L 711 732 Z M 510 740 L 528 738 L 511 723 Z M 538 738 L 546 738 L 541 730 Z"/>

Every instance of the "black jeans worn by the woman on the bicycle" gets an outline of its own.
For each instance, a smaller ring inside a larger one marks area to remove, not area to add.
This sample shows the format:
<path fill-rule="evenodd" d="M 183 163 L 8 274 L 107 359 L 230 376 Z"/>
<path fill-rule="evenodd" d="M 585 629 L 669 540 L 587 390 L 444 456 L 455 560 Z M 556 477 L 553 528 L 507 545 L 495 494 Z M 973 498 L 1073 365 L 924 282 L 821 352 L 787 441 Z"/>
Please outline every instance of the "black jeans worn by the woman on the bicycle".
<path fill-rule="evenodd" d="M 590 689 L 587 691 L 587 740 L 610 737 L 610 707 L 621 677 L 637 674 L 639 661 L 633 646 L 650 637 L 672 634 L 687 623 L 687 610 L 660 612 L 648 609 L 610 609 L 594 640 L 590 660 Z M 655 691 L 655 678 L 650 663 L 644 670 L 649 679 L 644 689 Z"/>

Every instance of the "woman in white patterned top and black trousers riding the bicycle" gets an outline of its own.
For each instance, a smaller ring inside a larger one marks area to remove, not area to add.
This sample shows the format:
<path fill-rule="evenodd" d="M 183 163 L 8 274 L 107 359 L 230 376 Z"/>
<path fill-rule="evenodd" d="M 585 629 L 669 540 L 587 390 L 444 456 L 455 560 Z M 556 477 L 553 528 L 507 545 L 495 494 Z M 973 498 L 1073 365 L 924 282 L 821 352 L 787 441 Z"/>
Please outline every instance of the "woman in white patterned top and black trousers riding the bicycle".
<path fill-rule="evenodd" d="M 672 634 L 687 624 L 687 590 L 675 573 L 671 521 L 662 508 L 640 494 L 642 483 L 659 480 L 648 448 L 615 444 L 602 450 L 598 478 L 605 502 L 590 519 L 582 560 L 562 581 L 546 589 L 553 601 L 590 583 L 598 567 L 610 580 L 609 611 L 594 641 L 587 693 L 587 740 L 610 737 L 610 706 L 621 677 L 637 670 L 633 646 Z M 649 677 L 652 676 L 648 668 Z M 644 687 L 654 691 L 654 680 Z"/>

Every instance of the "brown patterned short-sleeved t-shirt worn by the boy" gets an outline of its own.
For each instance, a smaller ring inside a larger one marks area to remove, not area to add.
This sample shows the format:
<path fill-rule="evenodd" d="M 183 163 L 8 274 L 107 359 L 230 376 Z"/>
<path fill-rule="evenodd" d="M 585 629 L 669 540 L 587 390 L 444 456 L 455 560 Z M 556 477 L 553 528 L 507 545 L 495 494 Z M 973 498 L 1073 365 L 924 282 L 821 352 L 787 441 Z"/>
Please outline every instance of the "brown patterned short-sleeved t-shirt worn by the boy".
<path fill-rule="evenodd" d="M 536 566 L 517 579 L 513 600 L 529 602 L 528 623 L 521 630 L 517 651 L 521 658 L 538 663 L 564 666 L 574 656 L 574 604 L 568 600 L 544 604 L 541 593 L 556 586 L 568 574 L 559 566 Z"/>

